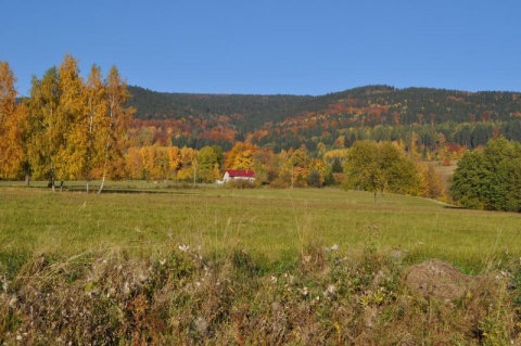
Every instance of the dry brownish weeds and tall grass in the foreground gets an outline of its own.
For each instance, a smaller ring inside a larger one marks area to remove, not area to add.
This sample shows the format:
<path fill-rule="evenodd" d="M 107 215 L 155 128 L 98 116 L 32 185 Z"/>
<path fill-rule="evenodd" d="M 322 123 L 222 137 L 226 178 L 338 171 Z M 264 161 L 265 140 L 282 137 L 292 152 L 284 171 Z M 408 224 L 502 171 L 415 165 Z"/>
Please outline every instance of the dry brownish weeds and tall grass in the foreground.
<path fill-rule="evenodd" d="M 308 243 L 260 272 L 240 248 L 188 245 L 28 260 L 0 294 L 4 345 L 507 345 L 520 341 L 521 262 L 481 277 Z M 5 277 L 4 277 L 5 278 Z M 435 279 L 435 280 L 434 280 Z"/>

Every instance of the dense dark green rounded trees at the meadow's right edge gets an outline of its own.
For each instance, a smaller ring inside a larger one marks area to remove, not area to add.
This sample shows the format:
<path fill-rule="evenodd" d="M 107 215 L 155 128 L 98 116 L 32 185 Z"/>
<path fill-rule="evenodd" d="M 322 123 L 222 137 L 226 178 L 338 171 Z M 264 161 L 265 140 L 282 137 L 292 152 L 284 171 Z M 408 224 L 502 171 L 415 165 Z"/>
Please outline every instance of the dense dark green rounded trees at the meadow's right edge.
<path fill-rule="evenodd" d="M 470 208 L 521 212 L 521 144 L 505 138 L 461 157 L 450 195 Z"/>

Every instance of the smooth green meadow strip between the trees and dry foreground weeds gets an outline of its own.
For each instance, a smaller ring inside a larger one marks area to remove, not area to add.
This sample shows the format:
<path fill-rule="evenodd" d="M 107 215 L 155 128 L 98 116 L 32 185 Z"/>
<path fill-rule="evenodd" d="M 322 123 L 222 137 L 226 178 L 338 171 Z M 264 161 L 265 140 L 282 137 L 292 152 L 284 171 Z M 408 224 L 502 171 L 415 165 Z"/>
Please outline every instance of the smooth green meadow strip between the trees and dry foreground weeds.
<path fill-rule="evenodd" d="M 125 190 L 135 193 L 118 193 Z M 401 195 L 377 205 L 370 193 L 336 189 L 118 182 L 87 194 L 3 185 L 0 205 L 4 254 L 124 247 L 147 255 L 187 244 L 206 253 L 241 248 L 270 266 L 291 261 L 310 242 L 344 251 L 371 242 L 410 261 L 440 258 L 474 273 L 506 254 L 521 255 L 520 215 Z"/>

